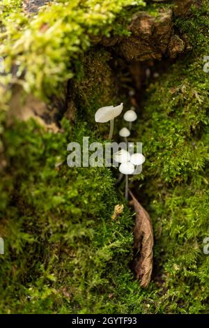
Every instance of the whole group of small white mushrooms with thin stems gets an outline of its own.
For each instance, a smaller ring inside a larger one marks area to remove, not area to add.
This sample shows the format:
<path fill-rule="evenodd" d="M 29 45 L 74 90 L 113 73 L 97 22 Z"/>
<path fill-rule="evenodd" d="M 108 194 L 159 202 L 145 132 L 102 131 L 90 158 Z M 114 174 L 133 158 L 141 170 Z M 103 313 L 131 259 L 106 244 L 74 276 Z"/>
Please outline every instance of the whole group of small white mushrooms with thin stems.
<path fill-rule="evenodd" d="M 110 130 L 109 130 L 109 140 L 111 140 L 114 133 L 114 119 L 118 117 L 123 111 L 123 103 L 116 107 L 106 106 L 101 107 L 95 113 L 95 121 L 98 123 L 106 123 L 110 121 Z M 127 145 L 127 137 L 130 136 L 130 131 L 132 128 L 132 122 L 136 121 L 137 113 L 134 111 L 134 107 L 131 110 L 127 110 L 123 115 L 123 119 L 129 123 L 128 128 L 123 127 L 119 131 L 119 135 L 124 137 L 125 143 Z M 125 174 L 125 198 L 128 198 L 128 175 L 133 174 L 136 170 L 136 167 L 143 164 L 145 161 L 144 155 L 140 153 L 130 154 L 127 150 L 121 149 L 114 154 L 114 161 L 120 163 L 119 171 L 122 174 Z M 119 178 L 120 179 L 120 178 Z"/>

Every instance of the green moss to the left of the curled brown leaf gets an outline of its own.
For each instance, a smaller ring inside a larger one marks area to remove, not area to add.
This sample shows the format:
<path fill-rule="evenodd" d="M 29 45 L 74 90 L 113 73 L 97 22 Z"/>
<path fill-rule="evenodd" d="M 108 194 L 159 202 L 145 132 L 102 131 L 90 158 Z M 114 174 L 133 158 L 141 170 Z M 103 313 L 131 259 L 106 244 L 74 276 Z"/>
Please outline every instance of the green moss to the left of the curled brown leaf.
<path fill-rule="evenodd" d="M 111 220 L 118 200 L 108 169 L 67 166 L 70 130 L 44 133 L 31 122 L 5 134 L 1 312 L 107 312 L 117 281 L 132 281 L 132 218 L 125 209 Z M 74 140 L 83 134 L 91 135 L 79 127 Z"/>

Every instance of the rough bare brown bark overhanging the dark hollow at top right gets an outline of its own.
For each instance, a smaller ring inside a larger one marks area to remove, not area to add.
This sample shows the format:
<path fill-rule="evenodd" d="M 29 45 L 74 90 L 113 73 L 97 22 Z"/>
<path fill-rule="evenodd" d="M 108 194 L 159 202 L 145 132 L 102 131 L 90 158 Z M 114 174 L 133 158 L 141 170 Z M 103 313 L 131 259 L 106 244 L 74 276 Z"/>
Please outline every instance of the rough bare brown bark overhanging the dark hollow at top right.
<path fill-rule="evenodd" d="M 178 15 L 189 15 L 189 6 L 194 1 L 180 4 L 180 7 L 160 8 L 158 15 L 154 17 L 145 11 L 136 13 L 132 17 L 128 29 L 130 37 L 125 38 L 103 38 L 102 45 L 116 46 L 116 52 L 121 54 L 127 61 L 147 61 L 149 59 L 162 59 L 167 55 L 171 59 L 189 49 L 185 36 L 177 35 L 173 28 L 174 12 Z M 176 9 L 175 9 L 176 8 Z"/>

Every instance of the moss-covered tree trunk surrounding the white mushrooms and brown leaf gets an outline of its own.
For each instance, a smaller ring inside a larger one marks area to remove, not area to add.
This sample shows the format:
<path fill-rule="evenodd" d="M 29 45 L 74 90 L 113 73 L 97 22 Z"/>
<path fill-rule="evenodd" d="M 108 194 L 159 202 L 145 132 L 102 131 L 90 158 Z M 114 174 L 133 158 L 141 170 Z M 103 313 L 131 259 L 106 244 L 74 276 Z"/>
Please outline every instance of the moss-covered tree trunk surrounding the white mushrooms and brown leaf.
<path fill-rule="evenodd" d="M 1 313 L 207 313 L 208 1 L 1 2 Z M 118 170 L 66 162 L 121 102 L 146 156 L 130 179 L 153 221 L 146 290 Z"/>

